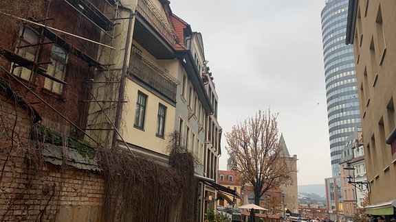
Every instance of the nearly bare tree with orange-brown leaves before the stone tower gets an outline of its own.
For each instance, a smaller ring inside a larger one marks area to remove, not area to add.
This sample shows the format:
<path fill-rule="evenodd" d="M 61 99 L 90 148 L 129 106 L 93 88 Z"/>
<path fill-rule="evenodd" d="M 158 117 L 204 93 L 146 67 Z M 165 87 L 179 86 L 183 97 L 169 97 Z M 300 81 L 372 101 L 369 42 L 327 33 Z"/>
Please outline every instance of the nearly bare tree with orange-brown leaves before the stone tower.
<path fill-rule="evenodd" d="M 243 184 L 253 186 L 254 203 L 263 194 L 287 182 L 290 169 L 278 146 L 278 114 L 261 111 L 239 122 L 225 133 L 225 147 L 232 159 L 232 170 L 241 175 Z"/>

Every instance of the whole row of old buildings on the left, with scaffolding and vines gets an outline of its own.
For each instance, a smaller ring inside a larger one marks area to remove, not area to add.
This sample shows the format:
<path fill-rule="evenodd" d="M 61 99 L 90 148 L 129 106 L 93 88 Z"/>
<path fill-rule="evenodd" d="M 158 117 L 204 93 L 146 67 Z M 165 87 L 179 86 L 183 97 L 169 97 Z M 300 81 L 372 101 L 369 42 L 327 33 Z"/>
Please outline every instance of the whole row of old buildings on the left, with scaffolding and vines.
<path fill-rule="evenodd" d="M 203 221 L 239 197 L 203 38 L 169 1 L 0 8 L 1 221 Z"/>

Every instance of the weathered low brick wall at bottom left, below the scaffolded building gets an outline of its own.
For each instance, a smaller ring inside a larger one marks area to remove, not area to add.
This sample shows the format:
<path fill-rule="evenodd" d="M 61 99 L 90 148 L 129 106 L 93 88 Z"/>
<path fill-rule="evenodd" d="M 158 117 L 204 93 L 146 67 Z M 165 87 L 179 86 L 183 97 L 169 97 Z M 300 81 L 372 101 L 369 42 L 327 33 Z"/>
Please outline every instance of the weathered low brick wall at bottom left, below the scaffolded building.
<path fill-rule="evenodd" d="M 100 175 L 44 162 L 29 145 L 30 112 L 10 101 L 0 96 L 0 221 L 99 221 Z"/>

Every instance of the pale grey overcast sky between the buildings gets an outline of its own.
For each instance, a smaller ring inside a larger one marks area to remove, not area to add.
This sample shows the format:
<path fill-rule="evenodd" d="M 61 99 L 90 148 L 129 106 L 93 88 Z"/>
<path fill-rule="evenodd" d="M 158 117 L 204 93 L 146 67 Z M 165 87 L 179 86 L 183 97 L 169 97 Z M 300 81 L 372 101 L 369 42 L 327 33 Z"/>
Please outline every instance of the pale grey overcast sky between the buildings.
<path fill-rule="evenodd" d="M 279 132 L 298 158 L 298 185 L 331 177 L 323 7 L 325 0 L 170 1 L 203 36 L 223 132 L 260 109 L 278 112 Z M 225 145 L 223 137 L 219 169 L 226 169 Z"/>

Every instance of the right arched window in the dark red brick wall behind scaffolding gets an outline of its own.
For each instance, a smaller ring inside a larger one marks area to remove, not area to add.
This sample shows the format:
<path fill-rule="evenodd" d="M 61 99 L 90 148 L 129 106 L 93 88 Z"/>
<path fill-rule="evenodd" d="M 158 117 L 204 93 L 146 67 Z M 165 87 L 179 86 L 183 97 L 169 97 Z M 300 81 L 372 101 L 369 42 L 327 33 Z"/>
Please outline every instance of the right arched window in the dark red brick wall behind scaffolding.
<path fill-rule="evenodd" d="M 48 64 L 47 74 L 63 81 L 65 79 L 67 62 L 66 51 L 61 49 L 61 47 L 58 47 L 57 45 L 52 45 L 50 62 L 51 63 Z M 52 79 L 45 78 L 44 88 L 54 93 L 61 94 L 63 84 L 61 84 L 60 82 L 55 82 Z"/>

